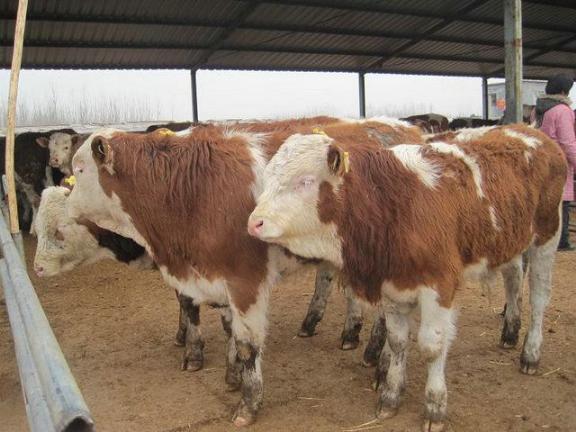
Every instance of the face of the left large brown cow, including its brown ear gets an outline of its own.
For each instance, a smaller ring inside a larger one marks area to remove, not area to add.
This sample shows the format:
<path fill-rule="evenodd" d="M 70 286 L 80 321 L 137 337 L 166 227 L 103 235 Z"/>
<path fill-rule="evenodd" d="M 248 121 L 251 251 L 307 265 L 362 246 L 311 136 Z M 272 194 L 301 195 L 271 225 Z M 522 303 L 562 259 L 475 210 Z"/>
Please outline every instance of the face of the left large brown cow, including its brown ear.
<path fill-rule="evenodd" d="M 74 155 L 72 169 L 76 184 L 68 201 L 68 214 L 76 220 L 87 219 L 143 245 L 118 196 L 113 192 L 107 194 L 100 183 L 101 175 L 106 175 L 110 182 L 117 181 L 113 150 L 108 142 L 116 133 L 121 131 L 106 129 L 90 135 Z"/>

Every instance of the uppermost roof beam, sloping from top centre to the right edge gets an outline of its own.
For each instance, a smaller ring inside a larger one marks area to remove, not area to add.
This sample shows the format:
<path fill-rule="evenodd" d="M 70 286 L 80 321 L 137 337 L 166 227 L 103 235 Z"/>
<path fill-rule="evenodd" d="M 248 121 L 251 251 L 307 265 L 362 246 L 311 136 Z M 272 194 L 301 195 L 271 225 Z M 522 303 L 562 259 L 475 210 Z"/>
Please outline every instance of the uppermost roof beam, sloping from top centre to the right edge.
<path fill-rule="evenodd" d="M 247 1 L 247 0 L 239 0 Z M 356 12 L 372 12 L 384 13 L 394 15 L 415 16 L 420 18 L 436 18 L 443 20 L 446 18 L 453 19 L 454 21 L 471 22 L 480 24 L 494 24 L 503 26 L 504 21 L 500 18 L 489 17 L 470 17 L 470 16 L 457 16 L 455 13 L 445 14 L 441 12 L 432 12 L 422 9 L 407 8 L 402 6 L 391 6 L 387 2 L 379 1 L 373 2 L 371 5 L 366 3 L 358 3 L 354 0 L 265 0 L 264 3 L 283 4 L 286 6 L 307 6 L 307 7 L 323 7 L 334 10 L 349 10 Z M 544 4 L 544 2 L 542 2 Z M 544 30 L 550 32 L 573 33 L 574 28 L 571 26 L 558 26 L 555 24 L 542 24 L 536 22 L 525 22 L 524 28 L 533 30 Z"/>

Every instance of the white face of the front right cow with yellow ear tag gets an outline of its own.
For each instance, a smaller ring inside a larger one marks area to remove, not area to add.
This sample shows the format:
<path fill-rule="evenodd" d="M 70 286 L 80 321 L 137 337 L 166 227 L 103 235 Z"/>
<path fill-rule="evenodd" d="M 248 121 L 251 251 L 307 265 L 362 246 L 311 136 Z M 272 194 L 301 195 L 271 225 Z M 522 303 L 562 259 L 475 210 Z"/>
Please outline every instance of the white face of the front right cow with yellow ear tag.
<path fill-rule="evenodd" d="M 250 215 L 248 232 L 307 258 L 339 264 L 334 224 L 318 213 L 321 189 L 337 190 L 347 169 L 347 155 L 325 135 L 293 135 L 270 160 L 264 192 Z"/>

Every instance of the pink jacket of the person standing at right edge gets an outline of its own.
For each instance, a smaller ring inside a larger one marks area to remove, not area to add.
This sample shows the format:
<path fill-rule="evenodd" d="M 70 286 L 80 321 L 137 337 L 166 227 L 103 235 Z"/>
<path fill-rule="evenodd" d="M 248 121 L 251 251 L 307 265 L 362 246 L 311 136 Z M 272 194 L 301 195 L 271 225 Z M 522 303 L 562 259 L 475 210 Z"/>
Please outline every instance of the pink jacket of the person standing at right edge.
<path fill-rule="evenodd" d="M 564 185 L 564 201 L 574 201 L 574 168 L 576 168 L 576 135 L 574 111 L 565 104 L 556 105 L 544 113 L 540 130 L 560 144 L 568 161 L 568 178 Z"/>

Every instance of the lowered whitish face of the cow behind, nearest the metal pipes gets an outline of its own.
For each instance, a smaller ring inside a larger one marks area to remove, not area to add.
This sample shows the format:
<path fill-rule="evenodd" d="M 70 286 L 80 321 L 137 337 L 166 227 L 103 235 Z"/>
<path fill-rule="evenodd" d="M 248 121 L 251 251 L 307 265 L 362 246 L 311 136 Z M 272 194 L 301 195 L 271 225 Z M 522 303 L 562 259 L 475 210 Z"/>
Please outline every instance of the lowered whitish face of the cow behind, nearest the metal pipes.
<path fill-rule="evenodd" d="M 66 212 L 69 194 L 63 187 L 42 192 L 35 220 L 38 245 L 34 270 L 38 276 L 55 276 L 98 258 L 101 248 L 94 236 Z"/>

